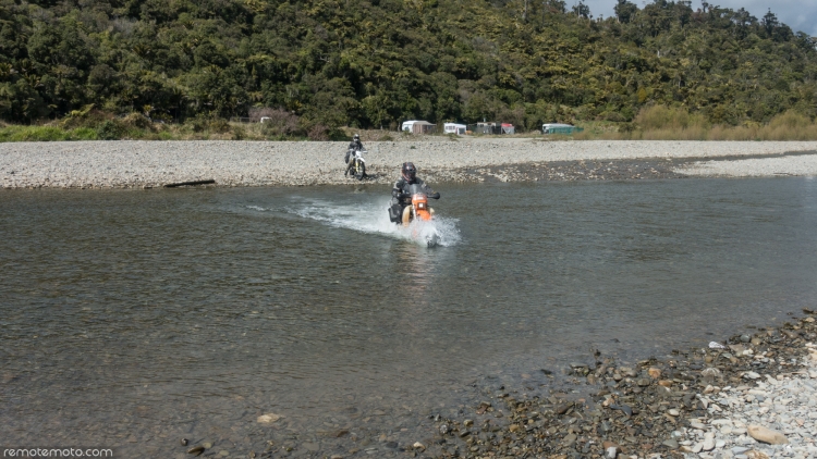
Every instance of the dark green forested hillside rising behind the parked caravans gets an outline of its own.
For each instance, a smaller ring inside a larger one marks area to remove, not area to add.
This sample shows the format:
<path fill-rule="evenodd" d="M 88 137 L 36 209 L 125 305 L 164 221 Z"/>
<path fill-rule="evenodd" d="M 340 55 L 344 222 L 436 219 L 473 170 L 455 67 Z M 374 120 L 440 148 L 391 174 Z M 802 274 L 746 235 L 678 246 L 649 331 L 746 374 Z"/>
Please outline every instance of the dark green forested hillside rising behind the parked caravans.
<path fill-rule="evenodd" d="M 271 108 L 302 128 L 533 129 L 627 122 L 648 104 L 731 125 L 817 114 L 810 37 L 771 12 L 704 7 L 618 0 L 614 17 L 594 17 L 562 0 L 0 0 L 0 117 Z"/>

